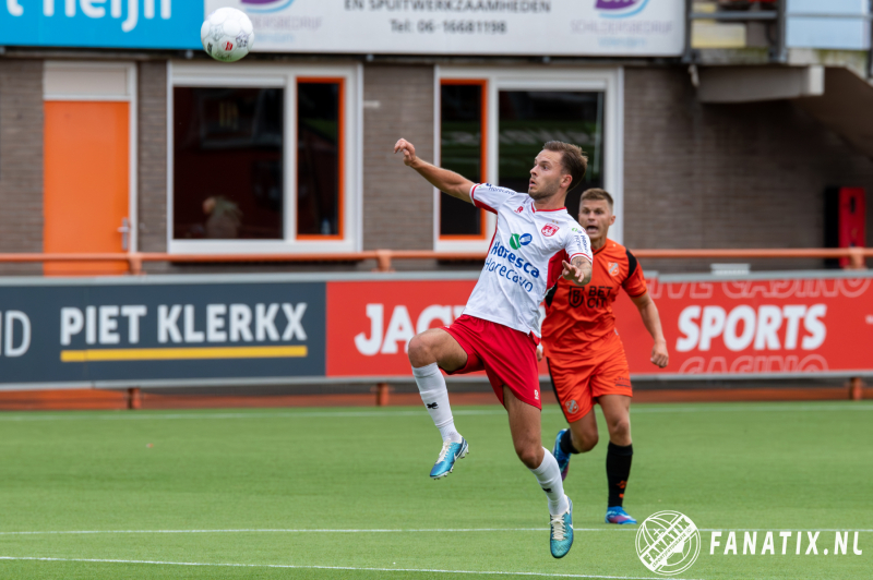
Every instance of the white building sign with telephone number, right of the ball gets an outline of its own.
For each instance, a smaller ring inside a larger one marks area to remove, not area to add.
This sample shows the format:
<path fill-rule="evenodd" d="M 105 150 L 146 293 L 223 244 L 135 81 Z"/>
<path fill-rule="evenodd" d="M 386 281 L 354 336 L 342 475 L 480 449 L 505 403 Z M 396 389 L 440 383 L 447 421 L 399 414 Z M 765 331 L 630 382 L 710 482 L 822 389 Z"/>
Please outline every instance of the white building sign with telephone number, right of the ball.
<path fill-rule="evenodd" d="M 248 12 L 255 51 L 679 56 L 684 0 L 206 0 Z"/>

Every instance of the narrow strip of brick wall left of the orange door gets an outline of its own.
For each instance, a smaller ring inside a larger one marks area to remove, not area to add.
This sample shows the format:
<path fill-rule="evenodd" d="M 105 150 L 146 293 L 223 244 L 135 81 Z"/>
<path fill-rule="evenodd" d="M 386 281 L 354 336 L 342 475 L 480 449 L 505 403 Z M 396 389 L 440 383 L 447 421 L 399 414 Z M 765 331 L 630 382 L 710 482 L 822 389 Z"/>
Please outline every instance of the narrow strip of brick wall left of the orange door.
<path fill-rule="evenodd" d="M 0 252 L 43 251 L 43 61 L 0 60 Z M 0 265 L 40 274 L 39 264 Z"/>

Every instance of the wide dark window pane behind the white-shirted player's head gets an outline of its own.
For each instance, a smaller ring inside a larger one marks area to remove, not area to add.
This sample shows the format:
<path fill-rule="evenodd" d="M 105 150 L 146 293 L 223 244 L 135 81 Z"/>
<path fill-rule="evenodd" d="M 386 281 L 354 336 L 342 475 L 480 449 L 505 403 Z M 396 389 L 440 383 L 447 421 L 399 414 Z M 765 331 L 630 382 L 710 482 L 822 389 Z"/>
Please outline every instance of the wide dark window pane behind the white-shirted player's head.
<path fill-rule="evenodd" d="M 549 141 L 579 145 L 588 155 L 585 182 L 566 196 L 571 216 L 588 188 L 602 188 L 603 93 L 581 90 L 500 92 L 500 185 L 526 192 L 534 158 Z"/>

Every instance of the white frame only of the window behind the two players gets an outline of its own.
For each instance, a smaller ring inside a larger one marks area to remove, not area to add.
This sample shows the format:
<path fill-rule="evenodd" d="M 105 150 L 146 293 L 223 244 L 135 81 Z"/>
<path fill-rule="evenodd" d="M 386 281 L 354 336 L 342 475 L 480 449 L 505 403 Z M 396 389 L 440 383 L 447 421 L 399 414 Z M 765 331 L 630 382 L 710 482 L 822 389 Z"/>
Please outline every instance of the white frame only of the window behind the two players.
<path fill-rule="evenodd" d="M 488 180 L 500 183 L 499 140 L 501 90 L 601 90 L 603 92 L 603 189 L 615 202 L 615 223 L 609 237 L 624 239 L 624 69 L 574 67 L 436 67 L 434 71 L 433 150 L 440 164 L 440 86 L 443 78 L 480 78 L 488 82 L 487 170 Z M 573 216 L 574 218 L 576 216 Z M 440 190 L 433 189 L 433 249 L 441 252 L 486 252 L 497 227 L 497 216 L 488 214 L 488 231 L 482 240 L 440 239 Z"/>

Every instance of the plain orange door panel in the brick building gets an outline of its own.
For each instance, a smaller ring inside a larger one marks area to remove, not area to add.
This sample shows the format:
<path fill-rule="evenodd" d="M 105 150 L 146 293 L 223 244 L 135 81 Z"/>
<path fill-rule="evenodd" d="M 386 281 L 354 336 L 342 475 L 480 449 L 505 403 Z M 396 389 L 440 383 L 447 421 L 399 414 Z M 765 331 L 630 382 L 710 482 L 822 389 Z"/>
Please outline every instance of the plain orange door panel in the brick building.
<path fill-rule="evenodd" d="M 44 247 L 121 252 L 129 216 L 130 105 L 45 104 Z M 119 274 L 124 263 L 46 264 L 46 275 Z"/>

